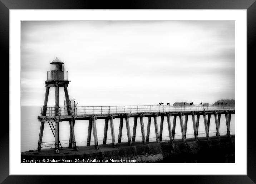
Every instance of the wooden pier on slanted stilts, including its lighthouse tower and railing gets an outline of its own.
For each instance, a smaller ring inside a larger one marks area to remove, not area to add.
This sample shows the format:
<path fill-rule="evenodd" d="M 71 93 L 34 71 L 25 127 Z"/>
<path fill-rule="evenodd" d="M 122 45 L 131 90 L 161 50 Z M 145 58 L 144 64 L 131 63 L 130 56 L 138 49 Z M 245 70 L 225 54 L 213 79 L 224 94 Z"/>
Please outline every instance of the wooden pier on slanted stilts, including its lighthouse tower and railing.
<path fill-rule="evenodd" d="M 142 142 L 141 144 L 147 144 L 149 142 L 149 133 L 150 133 L 150 125 L 151 120 L 154 121 L 154 130 L 156 136 L 156 143 L 159 143 L 162 140 L 163 133 L 163 123 L 164 119 L 167 119 L 168 124 L 168 132 L 169 132 L 169 143 L 171 145 L 174 144 L 174 136 L 176 131 L 176 121 L 177 117 L 179 119 L 179 124 L 181 127 L 182 141 L 186 143 L 186 133 L 187 133 L 187 125 L 188 125 L 188 117 L 192 117 L 193 123 L 193 131 L 194 138 L 198 140 L 198 127 L 200 117 L 203 116 L 203 122 L 205 127 L 206 140 L 209 140 L 209 127 L 211 116 L 214 116 L 214 123 L 216 125 L 216 136 L 217 139 L 220 139 L 220 119 L 221 114 L 225 114 L 225 121 L 227 127 L 226 136 L 231 138 L 230 134 L 230 122 L 231 122 L 231 114 L 235 114 L 235 106 L 230 105 L 184 105 L 184 106 L 174 106 L 174 105 L 147 105 L 147 106 L 83 106 L 83 107 L 74 107 L 72 108 L 70 103 L 70 98 L 68 94 L 68 81 L 67 72 L 63 71 L 64 63 L 56 58 L 51 65 L 54 70 L 48 73 L 66 73 L 64 75 L 51 75 L 48 77 L 48 80 L 45 81 L 46 92 L 45 92 L 45 100 L 44 106 L 41 109 L 41 116 L 38 117 L 38 120 L 41 122 L 39 140 L 38 140 L 38 148 L 37 152 L 41 151 L 41 144 L 43 138 L 44 131 L 44 123 L 48 122 L 49 125 L 52 126 L 51 129 L 53 131 L 55 137 L 55 153 L 59 153 L 60 150 L 60 140 L 59 140 L 59 123 L 63 121 L 68 121 L 70 125 L 70 138 L 69 138 L 69 148 L 73 148 L 74 151 L 77 150 L 77 145 L 75 141 L 75 133 L 74 126 L 75 120 L 84 120 L 89 121 L 88 127 L 88 135 L 87 135 L 87 146 L 90 146 L 90 140 L 93 132 L 94 137 L 94 147 L 95 149 L 99 149 L 98 144 L 98 132 L 97 132 L 97 119 L 105 119 L 104 126 L 104 139 L 103 144 L 107 143 L 107 132 L 108 127 L 111 129 L 111 137 L 112 137 L 112 146 L 114 148 L 117 147 L 115 142 L 115 132 L 113 119 L 120 119 L 119 123 L 119 133 L 118 133 L 118 143 L 121 143 L 122 140 L 122 131 L 123 131 L 123 123 L 125 120 L 125 126 L 127 129 L 127 141 L 128 145 L 132 146 L 132 142 L 136 139 L 136 131 L 137 131 L 137 123 L 139 119 L 139 123 L 141 126 L 141 136 Z M 56 78 L 57 76 L 57 78 Z M 55 106 L 47 107 L 49 89 L 50 87 L 55 88 Z M 65 100 L 66 107 L 59 107 L 59 87 L 64 88 L 65 92 Z M 160 130 L 158 130 L 158 122 L 157 117 L 161 117 L 160 122 Z M 173 116 L 173 123 L 171 126 L 170 117 Z M 129 119 L 134 118 L 134 126 L 133 132 L 131 133 L 130 122 Z M 144 119 L 147 118 L 148 126 L 147 132 L 145 132 L 144 128 Z M 55 122 L 55 128 L 53 123 Z M 53 130 L 54 129 L 54 130 Z"/>

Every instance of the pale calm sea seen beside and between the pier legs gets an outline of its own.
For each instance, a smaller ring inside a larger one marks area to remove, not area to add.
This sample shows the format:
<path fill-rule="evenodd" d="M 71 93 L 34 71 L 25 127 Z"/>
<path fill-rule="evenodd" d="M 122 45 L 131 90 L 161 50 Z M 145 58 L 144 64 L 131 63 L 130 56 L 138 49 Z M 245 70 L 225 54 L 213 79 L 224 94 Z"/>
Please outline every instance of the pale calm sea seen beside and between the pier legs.
<path fill-rule="evenodd" d="M 38 136 L 39 136 L 39 129 L 40 129 L 40 122 L 38 121 L 37 117 L 40 116 L 40 107 L 38 106 L 22 106 L 21 107 L 21 152 L 28 151 L 30 149 L 36 150 L 37 144 L 38 144 Z M 171 118 L 171 122 L 173 121 L 173 117 Z M 114 131 L 115 131 L 115 139 L 117 142 L 118 139 L 118 131 L 119 131 L 119 119 L 113 119 L 114 120 Z M 130 118 L 130 129 L 131 134 L 133 131 L 133 120 L 134 118 Z M 157 117 L 158 122 L 158 130 L 160 129 L 160 120 L 161 117 Z M 184 119 L 183 119 L 184 121 Z M 86 145 L 87 142 L 87 133 L 88 133 L 88 120 L 76 120 L 75 121 L 75 139 L 77 142 L 77 146 L 83 146 Z M 96 120 L 96 127 L 97 127 L 97 134 L 98 134 L 98 140 L 99 144 L 103 143 L 103 132 L 104 132 L 104 119 L 97 119 Z M 53 122 L 54 124 L 54 122 Z M 171 123 L 172 124 L 172 123 Z M 144 118 L 144 128 L 145 132 L 147 131 L 147 118 Z M 221 115 L 221 122 L 220 122 L 220 134 L 226 135 L 226 121 L 225 121 L 225 115 Z M 69 123 L 68 121 L 60 122 L 60 141 L 63 147 L 68 146 L 68 140 L 69 140 Z M 230 125 L 230 132 L 231 134 L 235 134 L 235 114 L 232 114 L 231 116 L 231 125 Z M 136 132 L 136 141 L 142 140 L 141 138 L 141 127 L 138 119 L 137 123 L 137 132 Z M 211 123 L 210 123 L 210 130 L 209 130 L 210 136 L 216 135 L 216 127 L 215 127 L 215 121 L 214 116 L 211 116 Z M 192 117 L 188 117 L 188 126 L 187 126 L 187 138 L 194 137 L 193 134 L 193 125 L 192 125 Z M 203 117 L 200 116 L 200 122 L 199 122 L 199 128 L 198 128 L 198 137 L 205 137 L 205 127 L 203 124 Z M 163 125 L 163 138 L 162 140 L 168 140 L 169 133 L 168 133 L 168 126 L 167 126 L 167 120 L 164 118 L 164 125 Z M 110 127 L 108 128 L 108 137 L 107 137 L 107 143 L 111 143 L 111 133 L 110 133 Z M 181 139 L 181 128 L 179 125 L 179 118 L 177 118 L 176 122 L 176 133 L 175 133 L 175 139 Z M 150 130 L 150 139 L 149 141 L 155 141 L 155 132 L 154 132 L 154 123 L 153 119 L 151 119 L 151 130 Z M 93 145 L 93 134 L 91 138 L 91 145 Z M 43 133 L 43 144 L 42 149 L 49 148 L 47 146 L 50 146 L 54 148 L 54 136 L 51 132 L 50 126 L 47 122 L 45 122 L 44 126 L 44 133 Z M 126 133 L 126 126 L 124 121 L 123 126 L 123 135 L 122 135 L 122 142 L 127 142 L 127 133 Z"/>

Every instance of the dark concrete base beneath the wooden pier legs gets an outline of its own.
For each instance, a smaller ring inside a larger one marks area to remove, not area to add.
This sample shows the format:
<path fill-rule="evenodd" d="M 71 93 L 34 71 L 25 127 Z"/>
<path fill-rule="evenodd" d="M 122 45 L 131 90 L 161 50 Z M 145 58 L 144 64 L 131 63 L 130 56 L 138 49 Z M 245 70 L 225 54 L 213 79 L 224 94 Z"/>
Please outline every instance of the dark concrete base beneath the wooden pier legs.
<path fill-rule="evenodd" d="M 186 139 L 186 143 L 180 139 L 174 140 L 174 145 L 165 140 L 147 144 L 132 142 L 132 146 L 127 142 L 117 143 L 117 148 L 104 144 L 99 145 L 98 150 L 94 146 L 77 148 L 75 152 L 66 147 L 59 154 L 54 154 L 52 149 L 43 149 L 40 153 L 22 152 L 21 163 L 28 163 L 28 160 L 32 160 L 31 163 L 33 160 L 40 160 L 37 163 L 131 163 L 129 160 L 136 160 L 133 163 L 235 163 L 235 135 L 220 139 L 210 137 L 209 140 L 199 137 L 198 141 Z"/>

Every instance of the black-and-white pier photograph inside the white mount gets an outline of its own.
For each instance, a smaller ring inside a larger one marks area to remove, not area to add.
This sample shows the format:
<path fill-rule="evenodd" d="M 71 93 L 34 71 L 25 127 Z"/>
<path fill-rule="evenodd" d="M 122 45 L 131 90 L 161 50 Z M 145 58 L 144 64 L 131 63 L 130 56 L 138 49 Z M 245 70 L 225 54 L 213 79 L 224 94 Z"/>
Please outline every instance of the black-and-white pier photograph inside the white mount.
<path fill-rule="evenodd" d="M 236 163 L 235 24 L 21 21 L 20 163 Z"/>

